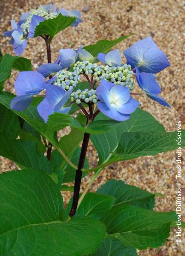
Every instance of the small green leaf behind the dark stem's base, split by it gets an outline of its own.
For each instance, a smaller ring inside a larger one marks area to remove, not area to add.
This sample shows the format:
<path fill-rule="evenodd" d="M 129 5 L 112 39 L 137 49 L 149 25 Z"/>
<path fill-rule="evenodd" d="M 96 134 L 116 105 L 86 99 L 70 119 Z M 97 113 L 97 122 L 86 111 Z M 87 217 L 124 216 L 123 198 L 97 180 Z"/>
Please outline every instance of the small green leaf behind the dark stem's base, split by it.
<path fill-rule="evenodd" d="M 115 198 L 105 194 L 98 194 L 98 193 L 86 193 L 85 197 L 83 198 L 76 214 L 82 216 L 91 216 L 91 217 L 98 217 L 98 215 L 102 215 L 109 211 L 113 204 Z M 69 211 L 72 206 L 72 198 L 67 205 L 65 210 L 65 217 L 69 215 Z"/>

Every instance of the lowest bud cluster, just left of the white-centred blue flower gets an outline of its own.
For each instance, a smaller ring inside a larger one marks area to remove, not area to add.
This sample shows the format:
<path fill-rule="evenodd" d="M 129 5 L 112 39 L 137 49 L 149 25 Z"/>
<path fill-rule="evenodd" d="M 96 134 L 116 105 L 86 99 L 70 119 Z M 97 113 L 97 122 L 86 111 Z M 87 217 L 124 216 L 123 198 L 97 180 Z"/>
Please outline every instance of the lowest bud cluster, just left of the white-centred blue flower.
<path fill-rule="evenodd" d="M 97 103 L 97 96 L 96 96 L 96 91 L 91 89 L 85 89 L 85 90 L 77 90 L 76 92 L 72 92 L 70 96 L 70 100 L 76 101 L 77 104 L 80 104 L 81 101 L 86 102 L 86 103 Z"/>

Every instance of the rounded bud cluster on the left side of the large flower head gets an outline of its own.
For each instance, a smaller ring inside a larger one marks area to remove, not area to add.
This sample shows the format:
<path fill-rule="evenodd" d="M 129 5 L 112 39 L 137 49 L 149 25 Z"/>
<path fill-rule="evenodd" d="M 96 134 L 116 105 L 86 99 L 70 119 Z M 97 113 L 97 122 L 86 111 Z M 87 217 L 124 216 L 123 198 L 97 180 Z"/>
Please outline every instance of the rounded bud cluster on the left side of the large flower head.
<path fill-rule="evenodd" d="M 81 80 L 81 77 L 76 72 L 67 70 L 60 70 L 55 74 L 55 77 L 56 79 L 53 81 L 53 85 L 60 86 L 64 90 L 73 89 Z"/>

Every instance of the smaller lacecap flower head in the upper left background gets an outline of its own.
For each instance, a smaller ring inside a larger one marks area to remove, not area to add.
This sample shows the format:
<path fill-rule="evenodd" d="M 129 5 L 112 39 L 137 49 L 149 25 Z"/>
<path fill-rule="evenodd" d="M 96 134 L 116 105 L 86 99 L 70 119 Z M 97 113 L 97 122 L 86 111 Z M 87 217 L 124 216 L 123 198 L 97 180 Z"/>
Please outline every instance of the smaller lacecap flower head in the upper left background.
<path fill-rule="evenodd" d="M 35 28 L 40 22 L 46 19 L 56 18 L 59 14 L 76 17 L 72 26 L 78 26 L 79 22 L 82 22 L 79 11 L 67 10 L 65 8 L 57 10 L 56 6 L 51 4 L 45 6 L 40 5 L 37 9 L 31 9 L 28 13 L 24 12 L 17 24 L 12 20 L 12 30 L 4 32 L 4 35 L 11 38 L 9 43 L 13 45 L 15 54 L 21 55 L 23 53 L 27 46 L 26 39 L 34 36 Z"/>

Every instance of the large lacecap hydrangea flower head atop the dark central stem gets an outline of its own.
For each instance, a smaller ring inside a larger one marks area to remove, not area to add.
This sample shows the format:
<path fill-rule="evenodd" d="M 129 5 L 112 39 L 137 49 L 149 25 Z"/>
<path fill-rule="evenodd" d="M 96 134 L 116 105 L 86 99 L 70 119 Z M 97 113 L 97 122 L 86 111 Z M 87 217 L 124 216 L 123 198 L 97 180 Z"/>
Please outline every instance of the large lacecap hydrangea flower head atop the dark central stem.
<path fill-rule="evenodd" d="M 83 46 L 76 51 L 61 49 L 55 63 L 42 64 L 37 72 L 21 72 L 18 75 L 15 85 L 18 96 L 12 100 L 11 107 L 18 111 L 25 109 L 34 95 L 43 90 L 46 94 L 37 110 L 45 122 L 54 112 L 66 114 L 72 104 L 78 104 L 85 112 L 81 103 L 94 108 L 96 105 L 96 113 L 100 111 L 111 119 L 125 121 L 139 106 L 133 95 L 146 95 L 170 107 L 159 95 L 161 88 L 154 76 L 154 73 L 170 65 L 164 52 L 151 38 L 146 38 L 134 43 L 124 54 L 127 64 L 122 63 L 118 49 L 107 54 L 99 52 L 97 58 L 103 64 L 97 64 L 92 63 L 95 58 Z M 23 83 L 26 74 L 26 83 Z M 134 76 L 138 88 L 142 90 L 139 93 L 133 92 Z M 82 77 L 87 79 L 88 87 L 76 89 Z"/>

